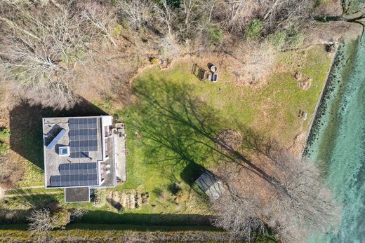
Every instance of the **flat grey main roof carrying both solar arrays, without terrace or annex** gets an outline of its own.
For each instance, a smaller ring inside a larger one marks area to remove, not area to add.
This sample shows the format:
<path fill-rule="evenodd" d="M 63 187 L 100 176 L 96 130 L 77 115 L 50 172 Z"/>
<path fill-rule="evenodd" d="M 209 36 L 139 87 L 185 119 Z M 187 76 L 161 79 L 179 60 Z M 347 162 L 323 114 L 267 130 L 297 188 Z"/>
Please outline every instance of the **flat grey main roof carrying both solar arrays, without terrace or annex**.
<path fill-rule="evenodd" d="M 101 117 L 43 118 L 46 188 L 98 185 Z M 51 146 L 50 146 L 51 145 Z M 68 147 L 69 155 L 60 154 Z"/>

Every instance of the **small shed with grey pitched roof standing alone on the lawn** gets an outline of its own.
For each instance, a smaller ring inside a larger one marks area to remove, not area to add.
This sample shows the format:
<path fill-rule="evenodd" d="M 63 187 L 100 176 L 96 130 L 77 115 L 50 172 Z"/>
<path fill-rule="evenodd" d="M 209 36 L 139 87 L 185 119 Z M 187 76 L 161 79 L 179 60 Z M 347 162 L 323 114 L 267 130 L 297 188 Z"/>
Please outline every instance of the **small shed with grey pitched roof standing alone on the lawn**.
<path fill-rule="evenodd" d="M 195 183 L 198 184 L 199 188 L 201 188 L 211 200 L 216 200 L 225 192 L 222 181 L 207 170 L 195 180 Z"/>

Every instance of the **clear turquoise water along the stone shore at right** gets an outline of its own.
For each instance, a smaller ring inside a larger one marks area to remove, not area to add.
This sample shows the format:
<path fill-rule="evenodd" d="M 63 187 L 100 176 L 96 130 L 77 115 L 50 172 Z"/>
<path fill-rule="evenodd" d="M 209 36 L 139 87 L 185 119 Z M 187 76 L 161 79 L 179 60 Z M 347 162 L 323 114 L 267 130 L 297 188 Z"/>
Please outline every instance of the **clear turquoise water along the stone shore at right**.
<path fill-rule="evenodd" d="M 365 48 L 359 41 L 338 50 L 308 146 L 343 205 L 342 222 L 337 232 L 310 242 L 365 242 Z"/>

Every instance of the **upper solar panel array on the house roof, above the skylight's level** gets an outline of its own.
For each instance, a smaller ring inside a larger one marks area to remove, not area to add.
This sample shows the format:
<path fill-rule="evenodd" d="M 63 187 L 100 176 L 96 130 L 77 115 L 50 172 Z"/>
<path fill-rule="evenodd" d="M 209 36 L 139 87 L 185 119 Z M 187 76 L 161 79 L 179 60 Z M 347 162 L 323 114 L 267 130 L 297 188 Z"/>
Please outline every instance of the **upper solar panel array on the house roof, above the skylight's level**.
<path fill-rule="evenodd" d="M 89 151 L 98 151 L 97 118 L 69 118 L 71 158 L 86 158 Z"/>

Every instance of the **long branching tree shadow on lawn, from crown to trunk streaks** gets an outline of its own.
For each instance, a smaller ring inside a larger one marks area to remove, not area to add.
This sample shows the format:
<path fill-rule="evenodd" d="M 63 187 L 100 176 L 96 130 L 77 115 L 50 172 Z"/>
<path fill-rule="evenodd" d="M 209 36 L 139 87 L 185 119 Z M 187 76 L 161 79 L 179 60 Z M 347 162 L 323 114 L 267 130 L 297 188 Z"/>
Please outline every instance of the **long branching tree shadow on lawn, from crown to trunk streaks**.
<path fill-rule="evenodd" d="M 274 174 L 251 161 L 243 151 L 253 150 L 270 155 L 274 144 L 244 125 L 237 125 L 242 134 L 240 148 L 234 148 L 218 137 L 227 130 L 227 122 L 211 106 L 194 97 L 192 88 L 164 79 L 137 81 L 133 92 L 138 97 L 131 116 L 131 128 L 142 134 L 145 157 L 163 169 L 166 163 L 174 167 L 209 165 L 231 162 L 280 187 Z M 182 176 L 184 176 L 182 174 Z M 186 178 L 186 176 L 185 176 Z"/>

